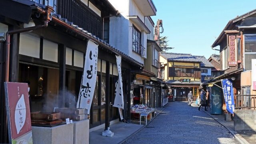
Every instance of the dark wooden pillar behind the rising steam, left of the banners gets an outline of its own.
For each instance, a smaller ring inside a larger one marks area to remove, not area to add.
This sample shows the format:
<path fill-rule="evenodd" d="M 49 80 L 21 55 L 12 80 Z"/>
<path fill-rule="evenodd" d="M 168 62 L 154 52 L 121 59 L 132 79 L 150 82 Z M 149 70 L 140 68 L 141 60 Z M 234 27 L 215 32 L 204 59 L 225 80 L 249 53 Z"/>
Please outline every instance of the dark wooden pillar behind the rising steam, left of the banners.
<path fill-rule="evenodd" d="M 59 108 L 68 107 L 65 106 L 66 97 L 66 46 L 63 44 L 58 45 L 58 62 L 59 67 Z M 67 103 L 68 104 L 68 103 Z"/>

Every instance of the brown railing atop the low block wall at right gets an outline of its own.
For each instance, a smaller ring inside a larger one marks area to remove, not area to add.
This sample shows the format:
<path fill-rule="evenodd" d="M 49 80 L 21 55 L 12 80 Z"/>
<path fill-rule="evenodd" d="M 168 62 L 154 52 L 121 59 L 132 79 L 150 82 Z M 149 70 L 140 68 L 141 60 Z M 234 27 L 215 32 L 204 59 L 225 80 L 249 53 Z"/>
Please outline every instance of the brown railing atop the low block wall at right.
<path fill-rule="evenodd" d="M 234 95 L 235 109 L 256 109 L 256 95 Z"/>

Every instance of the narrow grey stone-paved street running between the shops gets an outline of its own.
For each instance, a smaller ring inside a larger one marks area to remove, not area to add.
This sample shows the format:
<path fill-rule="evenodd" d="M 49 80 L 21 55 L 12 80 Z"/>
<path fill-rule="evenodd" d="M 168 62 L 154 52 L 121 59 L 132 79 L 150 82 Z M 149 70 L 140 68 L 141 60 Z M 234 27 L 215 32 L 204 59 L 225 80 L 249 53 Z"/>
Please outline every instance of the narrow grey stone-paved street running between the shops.
<path fill-rule="evenodd" d="M 221 124 L 198 107 L 170 102 L 145 128 L 123 144 L 240 144 Z"/>

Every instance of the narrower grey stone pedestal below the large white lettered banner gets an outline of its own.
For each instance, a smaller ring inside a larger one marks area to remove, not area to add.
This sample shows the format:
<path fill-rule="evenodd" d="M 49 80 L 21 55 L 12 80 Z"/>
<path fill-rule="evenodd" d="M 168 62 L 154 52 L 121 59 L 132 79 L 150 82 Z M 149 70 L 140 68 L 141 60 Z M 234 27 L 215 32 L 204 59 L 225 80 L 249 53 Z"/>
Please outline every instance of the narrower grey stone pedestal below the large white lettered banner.
<path fill-rule="evenodd" d="M 74 124 L 74 140 L 73 144 L 89 144 L 89 121 L 80 120 L 73 122 Z"/>

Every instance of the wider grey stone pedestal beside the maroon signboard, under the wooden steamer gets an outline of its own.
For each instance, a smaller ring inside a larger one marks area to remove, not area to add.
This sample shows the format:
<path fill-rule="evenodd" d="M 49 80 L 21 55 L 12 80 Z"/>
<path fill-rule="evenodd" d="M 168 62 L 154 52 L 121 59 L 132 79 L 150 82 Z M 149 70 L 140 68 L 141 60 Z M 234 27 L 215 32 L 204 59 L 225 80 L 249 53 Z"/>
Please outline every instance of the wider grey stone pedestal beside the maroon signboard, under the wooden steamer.
<path fill-rule="evenodd" d="M 74 124 L 53 128 L 32 126 L 33 144 L 73 144 Z"/>

